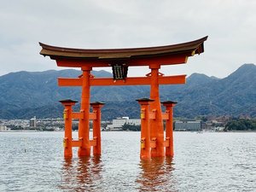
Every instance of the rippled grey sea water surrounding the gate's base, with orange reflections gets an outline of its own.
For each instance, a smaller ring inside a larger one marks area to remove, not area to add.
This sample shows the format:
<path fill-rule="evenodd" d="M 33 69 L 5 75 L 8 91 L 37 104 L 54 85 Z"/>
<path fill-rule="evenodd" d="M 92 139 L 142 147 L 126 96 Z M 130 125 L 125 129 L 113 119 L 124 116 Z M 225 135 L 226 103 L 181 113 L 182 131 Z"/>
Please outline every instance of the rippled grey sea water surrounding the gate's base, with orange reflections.
<path fill-rule="evenodd" d="M 256 191 L 256 133 L 175 132 L 175 157 L 153 160 L 124 131 L 102 132 L 100 158 L 64 160 L 63 134 L 0 132 L 0 190 Z"/>

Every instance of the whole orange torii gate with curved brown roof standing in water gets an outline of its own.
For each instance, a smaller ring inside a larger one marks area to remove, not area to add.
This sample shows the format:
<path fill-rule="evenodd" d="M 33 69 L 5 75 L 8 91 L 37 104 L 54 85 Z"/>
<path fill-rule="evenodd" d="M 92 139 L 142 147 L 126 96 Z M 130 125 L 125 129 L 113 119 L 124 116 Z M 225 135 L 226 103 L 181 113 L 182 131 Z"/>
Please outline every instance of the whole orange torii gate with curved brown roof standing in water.
<path fill-rule="evenodd" d="M 79 78 L 59 78 L 60 86 L 81 86 L 80 112 L 74 113 L 72 100 L 61 101 L 65 106 L 64 156 L 71 157 L 72 147 L 79 147 L 79 156 L 101 154 L 101 107 L 102 102 L 90 103 L 90 86 L 150 85 L 150 99 L 137 100 L 141 105 L 141 159 L 173 156 L 172 107 L 176 102 L 162 102 L 166 112 L 161 112 L 160 84 L 184 84 L 186 75 L 165 76 L 160 73 L 161 65 L 186 63 L 189 56 L 204 52 L 207 37 L 195 41 L 160 47 L 135 49 L 70 49 L 41 44 L 41 55 L 55 60 L 59 67 L 80 67 Z M 127 77 L 128 67 L 148 66 L 146 77 Z M 90 74 L 93 67 L 112 67 L 113 78 L 96 78 Z M 93 113 L 90 113 L 90 105 Z M 79 140 L 72 138 L 72 119 L 79 119 Z M 89 121 L 93 119 L 93 139 L 90 140 Z M 166 120 L 166 137 L 163 119 Z"/>

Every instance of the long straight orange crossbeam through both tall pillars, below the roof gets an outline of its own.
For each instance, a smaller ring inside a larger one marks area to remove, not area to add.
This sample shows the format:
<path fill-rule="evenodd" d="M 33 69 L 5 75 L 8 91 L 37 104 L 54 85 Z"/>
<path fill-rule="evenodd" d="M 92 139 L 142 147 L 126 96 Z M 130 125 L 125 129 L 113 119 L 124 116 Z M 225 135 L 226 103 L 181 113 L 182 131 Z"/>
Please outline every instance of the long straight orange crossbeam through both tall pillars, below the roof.
<path fill-rule="evenodd" d="M 186 75 L 159 76 L 159 84 L 185 84 Z M 83 79 L 59 78 L 59 86 L 82 86 Z M 114 85 L 150 85 L 150 77 L 126 78 L 125 80 L 113 80 L 112 78 L 91 78 L 90 86 L 114 86 Z"/>

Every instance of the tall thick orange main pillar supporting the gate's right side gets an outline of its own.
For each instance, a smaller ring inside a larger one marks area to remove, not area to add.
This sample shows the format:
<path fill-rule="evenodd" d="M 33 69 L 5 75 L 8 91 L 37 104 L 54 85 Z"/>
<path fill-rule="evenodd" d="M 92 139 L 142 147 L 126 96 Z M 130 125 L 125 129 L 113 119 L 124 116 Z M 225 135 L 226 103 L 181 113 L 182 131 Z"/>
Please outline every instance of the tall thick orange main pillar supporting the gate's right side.
<path fill-rule="evenodd" d="M 160 65 L 150 65 L 151 69 L 151 86 L 150 86 L 150 99 L 154 102 L 150 103 L 150 110 L 155 109 L 155 119 L 150 119 L 150 137 L 156 138 L 156 148 L 151 149 L 152 157 L 164 157 L 164 126 L 160 107 L 160 94 L 159 94 L 159 69 Z"/>

